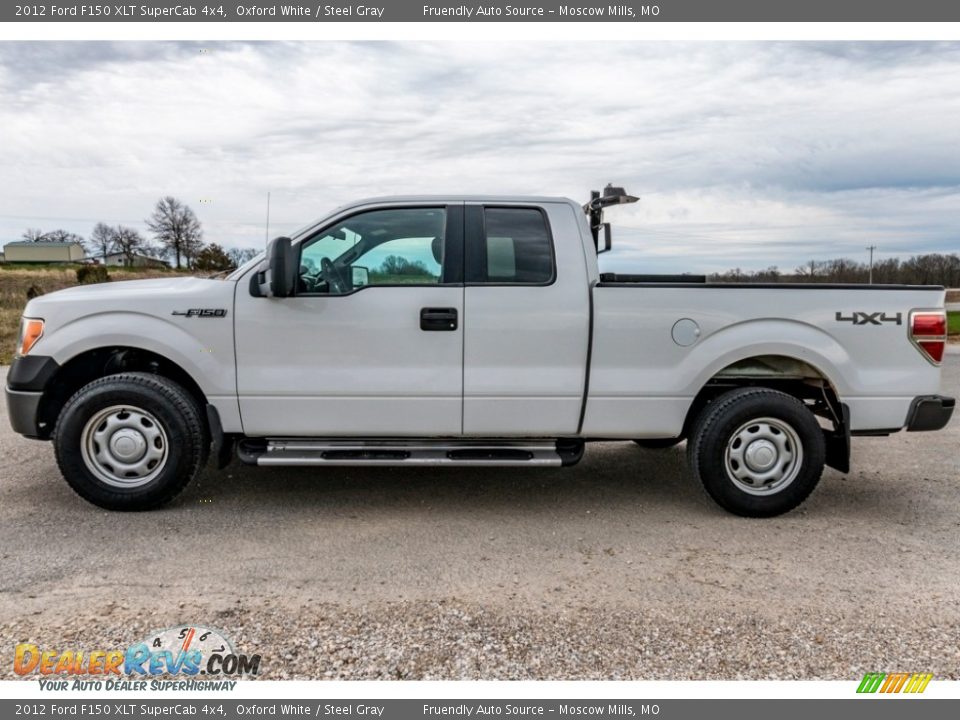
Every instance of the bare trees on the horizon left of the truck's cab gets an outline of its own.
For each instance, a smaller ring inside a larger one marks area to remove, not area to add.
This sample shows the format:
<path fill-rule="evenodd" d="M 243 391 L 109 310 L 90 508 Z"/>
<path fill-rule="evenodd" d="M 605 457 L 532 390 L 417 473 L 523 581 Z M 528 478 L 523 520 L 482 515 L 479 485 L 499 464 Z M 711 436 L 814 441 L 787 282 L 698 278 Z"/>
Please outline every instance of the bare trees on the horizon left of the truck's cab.
<path fill-rule="evenodd" d="M 255 248 L 225 250 L 217 243 L 203 241 L 200 220 L 189 205 L 175 197 L 166 196 L 157 201 L 150 217 L 145 220 L 152 238 L 144 237 L 135 228 L 98 222 L 89 239 L 76 233 L 57 229 L 44 232 L 29 228 L 21 235 L 28 242 L 77 242 L 94 258 L 106 261 L 107 255 L 120 253 L 127 265 L 134 264 L 137 255 L 146 255 L 173 263 L 176 268 L 188 270 L 232 270 L 256 255 Z"/>

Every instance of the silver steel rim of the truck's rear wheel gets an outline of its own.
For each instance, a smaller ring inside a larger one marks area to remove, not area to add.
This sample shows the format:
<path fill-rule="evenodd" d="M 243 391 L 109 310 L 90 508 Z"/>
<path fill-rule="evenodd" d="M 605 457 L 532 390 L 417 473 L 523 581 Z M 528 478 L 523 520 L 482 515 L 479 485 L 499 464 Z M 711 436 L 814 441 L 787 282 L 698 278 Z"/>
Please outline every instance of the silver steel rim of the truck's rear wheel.
<path fill-rule="evenodd" d="M 730 435 L 724 461 L 727 477 L 739 490 L 750 495 L 774 495 L 800 474 L 803 444 L 789 423 L 756 418 Z"/>

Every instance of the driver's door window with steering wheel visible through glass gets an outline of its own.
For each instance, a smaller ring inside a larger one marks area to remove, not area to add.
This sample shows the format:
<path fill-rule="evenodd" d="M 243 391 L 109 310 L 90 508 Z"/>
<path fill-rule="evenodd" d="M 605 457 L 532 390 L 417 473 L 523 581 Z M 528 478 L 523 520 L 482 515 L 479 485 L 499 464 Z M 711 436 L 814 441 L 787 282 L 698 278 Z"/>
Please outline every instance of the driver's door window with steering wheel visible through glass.
<path fill-rule="evenodd" d="M 298 292 L 343 295 L 366 285 L 442 281 L 446 211 L 371 210 L 302 244 Z"/>

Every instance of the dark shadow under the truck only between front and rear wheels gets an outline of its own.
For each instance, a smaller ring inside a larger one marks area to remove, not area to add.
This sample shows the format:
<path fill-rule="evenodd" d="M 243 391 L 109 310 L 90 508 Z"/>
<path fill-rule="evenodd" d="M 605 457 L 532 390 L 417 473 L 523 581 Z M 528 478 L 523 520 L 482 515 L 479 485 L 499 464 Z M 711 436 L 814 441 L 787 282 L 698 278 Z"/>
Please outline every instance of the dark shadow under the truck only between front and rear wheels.
<path fill-rule="evenodd" d="M 686 469 L 684 446 L 645 450 L 633 443 L 588 446 L 576 466 L 536 468 L 333 467 L 208 469 L 176 503 L 432 512 L 537 512 L 624 504 L 713 512 Z"/>

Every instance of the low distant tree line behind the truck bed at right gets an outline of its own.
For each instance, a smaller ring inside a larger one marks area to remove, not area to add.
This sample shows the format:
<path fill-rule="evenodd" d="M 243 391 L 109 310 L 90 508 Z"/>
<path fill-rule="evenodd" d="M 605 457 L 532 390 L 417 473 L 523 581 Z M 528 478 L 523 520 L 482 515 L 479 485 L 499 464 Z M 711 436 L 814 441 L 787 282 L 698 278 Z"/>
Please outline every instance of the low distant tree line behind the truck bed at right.
<path fill-rule="evenodd" d="M 792 273 L 781 272 L 776 266 L 764 270 L 734 268 L 709 276 L 711 282 L 804 282 L 804 283 L 867 283 L 870 282 L 869 263 L 837 258 L 810 260 Z M 943 285 L 960 287 L 960 255 L 927 253 L 913 255 L 906 260 L 884 258 L 873 263 L 873 282 L 891 285 Z"/>

